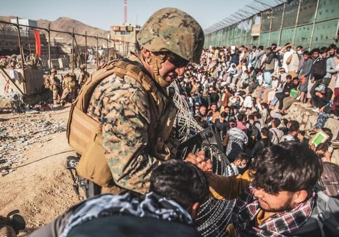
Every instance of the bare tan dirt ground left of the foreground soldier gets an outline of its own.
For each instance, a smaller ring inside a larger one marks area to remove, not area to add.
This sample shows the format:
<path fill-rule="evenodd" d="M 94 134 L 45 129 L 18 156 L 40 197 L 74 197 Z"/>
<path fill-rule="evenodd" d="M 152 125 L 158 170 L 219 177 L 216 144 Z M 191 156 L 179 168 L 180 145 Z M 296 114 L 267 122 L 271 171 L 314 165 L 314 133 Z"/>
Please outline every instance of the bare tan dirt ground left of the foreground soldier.
<path fill-rule="evenodd" d="M 32 116 L 49 113 L 51 118 L 66 123 L 68 111 L 69 107 Z M 15 120 L 17 116 L 21 115 L 0 113 L 0 125 L 2 121 Z M 28 236 L 81 201 L 72 189 L 70 174 L 65 169 L 66 157 L 74 154 L 67 144 L 66 132 L 49 134 L 46 138 L 44 144 L 34 143 L 23 151 L 27 160 L 14 167 L 13 172 L 0 177 L 0 215 L 19 210 L 26 220 L 26 230 L 19 236 Z"/>

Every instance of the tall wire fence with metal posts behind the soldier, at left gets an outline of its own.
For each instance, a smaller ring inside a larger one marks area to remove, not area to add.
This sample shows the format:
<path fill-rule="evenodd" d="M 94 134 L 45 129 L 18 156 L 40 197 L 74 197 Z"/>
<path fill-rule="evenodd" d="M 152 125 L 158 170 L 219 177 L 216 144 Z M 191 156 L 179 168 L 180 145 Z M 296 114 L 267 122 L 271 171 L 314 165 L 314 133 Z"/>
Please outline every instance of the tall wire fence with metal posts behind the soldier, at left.
<path fill-rule="evenodd" d="M 31 60 L 32 54 L 40 51 L 42 65 L 49 68 L 69 67 L 74 71 L 81 64 L 85 64 L 86 69 L 94 68 L 111 59 L 127 56 L 135 47 L 134 42 L 87 35 L 87 32 L 80 34 L 74 28 L 66 32 L 51 29 L 49 23 L 44 27 L 20 24 L 18 17 L 16 22 L 0 20 L 0 30 L 0 56 L 20 55 L 24 65 Z"/>

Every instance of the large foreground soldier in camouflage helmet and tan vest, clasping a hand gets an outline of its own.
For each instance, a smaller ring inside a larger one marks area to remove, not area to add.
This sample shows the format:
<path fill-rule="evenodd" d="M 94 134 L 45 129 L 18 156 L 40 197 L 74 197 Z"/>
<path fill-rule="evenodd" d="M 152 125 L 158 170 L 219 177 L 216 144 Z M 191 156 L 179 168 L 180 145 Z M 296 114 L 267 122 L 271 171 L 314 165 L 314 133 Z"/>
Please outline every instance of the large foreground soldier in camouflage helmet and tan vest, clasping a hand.
<path fill-rule="evenodd" d="M 143 25 L 137 42 L 137 52 L 88 78 L 72 104 L 67 134 L 82 154 L 81 177 L 146 193 L 152 170 L 175 157 L 179 144 L 172 130 L 177 108 L 165 88 L 189 62 L 200 62 L 204 33 L 187 13 L 164 8 Z"/>

